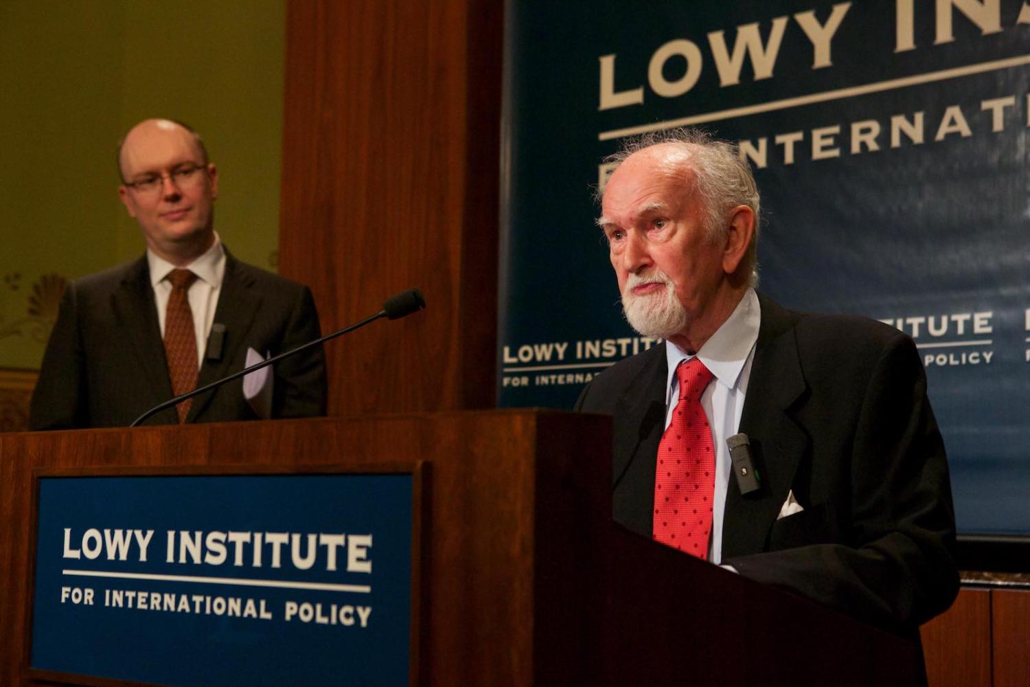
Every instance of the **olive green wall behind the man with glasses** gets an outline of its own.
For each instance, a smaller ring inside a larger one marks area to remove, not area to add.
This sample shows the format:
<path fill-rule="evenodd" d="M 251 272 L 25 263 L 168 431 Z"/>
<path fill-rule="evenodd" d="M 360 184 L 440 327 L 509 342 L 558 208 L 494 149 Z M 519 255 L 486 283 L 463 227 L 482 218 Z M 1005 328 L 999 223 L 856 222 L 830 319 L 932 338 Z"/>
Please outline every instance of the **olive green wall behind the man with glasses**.
<path fill-rule="evenodd" d="M 0 368 L 35 369 L 61 279 L 142 254 L 118 138 L 167 116 L 218 167 L 215 228 L 275 269 L 284 0 L 0 0 Z"/>

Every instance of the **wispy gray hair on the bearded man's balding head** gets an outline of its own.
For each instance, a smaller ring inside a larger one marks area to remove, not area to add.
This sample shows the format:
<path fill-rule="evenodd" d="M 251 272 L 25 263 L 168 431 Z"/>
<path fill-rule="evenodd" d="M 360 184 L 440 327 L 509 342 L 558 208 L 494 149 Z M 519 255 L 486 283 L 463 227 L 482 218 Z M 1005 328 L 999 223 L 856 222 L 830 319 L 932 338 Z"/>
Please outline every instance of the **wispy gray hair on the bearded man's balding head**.
<path fill-rule="evenodd" d="M 755 235 L 744 255 L 744 265 L 751 272 L 751 285 L 758 283 L 758 228 L 761 224 L 761 197 L 751 166 L 741 156 L 735 143 L 721 141 L 707 131 L 693 127 L 655 131 L 626 138 L 622 148 L 603 161 L 610 171 L 618 169 L 629 156 L 654 145 L 673 144 L 689 152 L 683 163 L 691 172 L 692 184 L 685 194 L 696 193 L 705 212 L 705 231 L 712 240 L 725 236 L 729 212 L 741 205 L 755 214 Z M 597 193 L 603 200 L 605 190 Z"/>

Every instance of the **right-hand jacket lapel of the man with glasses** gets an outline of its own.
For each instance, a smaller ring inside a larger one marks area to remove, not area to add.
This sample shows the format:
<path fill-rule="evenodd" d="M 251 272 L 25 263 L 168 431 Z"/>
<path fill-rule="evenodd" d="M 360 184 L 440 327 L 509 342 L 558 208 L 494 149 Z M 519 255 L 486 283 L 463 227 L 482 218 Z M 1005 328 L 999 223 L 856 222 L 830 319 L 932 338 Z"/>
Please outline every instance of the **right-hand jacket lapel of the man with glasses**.
<path fill-rule="evenodd" d="M 214 321 L 226 325 L 226 340 L 219 360 L 208 360 L 205 356 L 197 376 L 198 387 L 231 374 L 234 372 L 231 370 L 233 360 L 243 359 L 241 348 L 243 342 L 247 340 L 247 332 L 253 323 L 262 301 L 252 286 L 253 278 L 240 269 L 240 262 L 226 249 L 226 274 L 221 279 L 218 305 L 214 311 Z M 268 351 L 258 352 L 264 355 Z M 241 369 L 238 368 L 236 371 Z M 186 415 L 186 422 L 196 421 L 211 403 L 214 393 L 215 391 L 209 391 L 194 399 Z"/>

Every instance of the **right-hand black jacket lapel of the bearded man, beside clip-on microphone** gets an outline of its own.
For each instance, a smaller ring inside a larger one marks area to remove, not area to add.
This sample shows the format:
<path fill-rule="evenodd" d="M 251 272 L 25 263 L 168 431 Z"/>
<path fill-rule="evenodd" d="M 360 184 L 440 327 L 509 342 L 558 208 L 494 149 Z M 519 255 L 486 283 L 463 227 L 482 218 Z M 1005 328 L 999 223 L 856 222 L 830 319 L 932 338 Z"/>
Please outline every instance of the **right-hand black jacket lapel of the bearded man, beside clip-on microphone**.
<path fill-rule="evenodd" d="M 787 499 L 798 462 L 809 446 L 790 411 L 808 385 L 801 372 L 790 313 L 764 297 L 761 325 L 740 431 L 751 442 L 765 488 L 743 496 L 730 480 L 722 527 L 723 559 L 763 551 L 772 523 Z"/>

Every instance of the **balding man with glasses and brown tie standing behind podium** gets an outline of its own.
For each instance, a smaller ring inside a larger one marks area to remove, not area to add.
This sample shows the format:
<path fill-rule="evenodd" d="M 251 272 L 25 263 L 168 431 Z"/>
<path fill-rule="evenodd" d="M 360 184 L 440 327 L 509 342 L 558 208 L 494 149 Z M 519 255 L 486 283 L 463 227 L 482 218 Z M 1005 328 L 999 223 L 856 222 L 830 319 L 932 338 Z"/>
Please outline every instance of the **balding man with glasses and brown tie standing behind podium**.
<path fill-rule="evenodd" d="M 30 427 L 128 425 L 163 401 L 319 336 L 311 291 L 233 257 L 214 231 L 218 174 L 201 137 L 146 119 L 118 146 L 118 196 L 146 254 L 68 285 L 32 399 Z M 306 417 L 325 412 L 320 348 L 147 423 Z"/>

